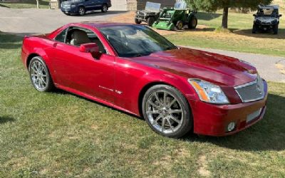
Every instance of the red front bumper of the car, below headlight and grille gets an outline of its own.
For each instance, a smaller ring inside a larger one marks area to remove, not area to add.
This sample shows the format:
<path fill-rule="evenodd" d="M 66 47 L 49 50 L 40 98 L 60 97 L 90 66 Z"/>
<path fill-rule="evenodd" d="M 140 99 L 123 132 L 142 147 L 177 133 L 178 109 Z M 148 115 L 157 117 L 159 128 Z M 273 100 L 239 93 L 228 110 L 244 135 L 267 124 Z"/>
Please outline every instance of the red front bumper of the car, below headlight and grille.
<path fill-rule="evenodd" d="M 264 81 L 264 99 L 237 105 L 213 105 L 200 100 L 188 100 L 194 120 L 194 132 L 199 135 L 225 136 L 246 129 L 264 117 L 267 100 L 267 83 Z M 251 120 L 254 112 L 259 113 Z M 227 126 L 234 122 L 234 130 L 228 132 Z"/>

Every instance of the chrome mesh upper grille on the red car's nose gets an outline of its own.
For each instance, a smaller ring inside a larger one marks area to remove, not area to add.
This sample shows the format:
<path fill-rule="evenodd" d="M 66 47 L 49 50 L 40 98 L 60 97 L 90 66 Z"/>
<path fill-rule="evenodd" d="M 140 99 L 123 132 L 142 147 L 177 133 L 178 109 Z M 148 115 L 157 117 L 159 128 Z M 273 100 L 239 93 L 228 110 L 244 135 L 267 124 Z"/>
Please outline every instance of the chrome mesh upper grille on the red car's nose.
<path fill-rule="evenodd" d="M 234 88 L 242 99 L 242 103 L 248 103 L 255 100 L 261 100 L 264 98 L 264 83 L 258 76 L 257 80 L 244 85 L 239 85 Z"/>

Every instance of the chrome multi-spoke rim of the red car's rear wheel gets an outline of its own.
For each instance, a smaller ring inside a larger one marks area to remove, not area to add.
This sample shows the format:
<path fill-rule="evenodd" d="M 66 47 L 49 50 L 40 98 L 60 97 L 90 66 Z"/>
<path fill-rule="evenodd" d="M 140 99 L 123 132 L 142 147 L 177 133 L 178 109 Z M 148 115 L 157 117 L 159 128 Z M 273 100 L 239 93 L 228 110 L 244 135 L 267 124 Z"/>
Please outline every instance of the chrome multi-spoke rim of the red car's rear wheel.
<path fill-rule="evenodd" d="M 48 78 L 46 69 L 40 61 L 33 61 L 30 69 L 31 80 L 37 90 L 45 90 Z"/>

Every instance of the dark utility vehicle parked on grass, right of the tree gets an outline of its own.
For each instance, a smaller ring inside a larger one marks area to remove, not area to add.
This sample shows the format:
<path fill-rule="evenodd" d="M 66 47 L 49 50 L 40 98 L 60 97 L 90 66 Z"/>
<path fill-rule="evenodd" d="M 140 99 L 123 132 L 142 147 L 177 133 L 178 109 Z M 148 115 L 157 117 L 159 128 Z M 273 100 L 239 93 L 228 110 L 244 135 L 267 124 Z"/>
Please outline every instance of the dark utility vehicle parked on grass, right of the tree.
<path fill-rule="evenodd" d="M 279 18 L 281 16 L 282 15 L 279 14 L 278 5 L 259 6 L 257 14 L 254 14 L 254 26 L 252 27 L 252 33 L 273 29 L 274 34 L 277 34 Z"/>

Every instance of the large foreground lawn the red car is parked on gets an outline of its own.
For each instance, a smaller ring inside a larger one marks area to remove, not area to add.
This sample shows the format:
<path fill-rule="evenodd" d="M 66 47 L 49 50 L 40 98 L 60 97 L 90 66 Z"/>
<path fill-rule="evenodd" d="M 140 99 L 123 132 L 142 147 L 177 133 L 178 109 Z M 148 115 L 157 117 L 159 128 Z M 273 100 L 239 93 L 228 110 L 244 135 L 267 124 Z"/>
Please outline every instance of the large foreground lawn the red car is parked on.
<path fill-rule="evenodd" d="M 285 84 L 264 120 L 229 137 L 175 140 L 58 90 L 33 89 L 21 38 L 0 33 L 0 177 L 285 177 Z"/>

